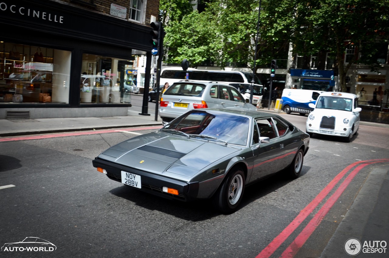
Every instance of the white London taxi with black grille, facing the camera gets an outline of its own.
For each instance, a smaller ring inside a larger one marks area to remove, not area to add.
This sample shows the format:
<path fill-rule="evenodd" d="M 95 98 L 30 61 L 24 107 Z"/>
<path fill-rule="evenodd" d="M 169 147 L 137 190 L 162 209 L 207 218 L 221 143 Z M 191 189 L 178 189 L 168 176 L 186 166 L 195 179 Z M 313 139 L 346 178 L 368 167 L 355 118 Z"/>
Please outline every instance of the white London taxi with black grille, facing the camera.
<path fill-rule="evenodd" d="M 307 133 L 341 136 L 350 142 L 359 128 L 359 112 L 357 95 L 344 92 L 323 92 L 316 105 L 310 103 L 314 110 L 307 118 Z"/>

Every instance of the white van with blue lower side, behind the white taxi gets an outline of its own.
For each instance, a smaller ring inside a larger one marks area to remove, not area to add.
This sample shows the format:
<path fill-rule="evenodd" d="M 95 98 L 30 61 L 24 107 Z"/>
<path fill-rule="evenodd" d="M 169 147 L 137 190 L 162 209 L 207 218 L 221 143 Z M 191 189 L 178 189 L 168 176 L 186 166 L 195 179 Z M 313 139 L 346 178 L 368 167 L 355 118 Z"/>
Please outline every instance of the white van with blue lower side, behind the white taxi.
<path fill-rule="evenodd" d="M 309 114 L 313 108 L 310 108 L 308 104 L 315 104 L 317 97 L 322 92 L 319 90 L 284 89 L 281 96 L 282 110 L 287 114 L 291 112 L 300 113 L 300 115 Z"/>

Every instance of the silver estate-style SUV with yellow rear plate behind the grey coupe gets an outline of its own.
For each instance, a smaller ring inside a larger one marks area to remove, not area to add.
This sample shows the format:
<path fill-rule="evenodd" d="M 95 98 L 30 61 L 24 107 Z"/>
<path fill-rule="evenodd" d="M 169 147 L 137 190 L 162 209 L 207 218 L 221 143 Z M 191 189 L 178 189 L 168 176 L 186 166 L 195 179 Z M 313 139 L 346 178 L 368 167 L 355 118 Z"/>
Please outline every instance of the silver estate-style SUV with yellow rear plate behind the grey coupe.
<path fill-rule="evenodd" d="M 215 81 L 179 81 L 162 95 L 159 116 L 172 120 L 196 108 L 237 108 L 256 111 L 233 86 Z"/>

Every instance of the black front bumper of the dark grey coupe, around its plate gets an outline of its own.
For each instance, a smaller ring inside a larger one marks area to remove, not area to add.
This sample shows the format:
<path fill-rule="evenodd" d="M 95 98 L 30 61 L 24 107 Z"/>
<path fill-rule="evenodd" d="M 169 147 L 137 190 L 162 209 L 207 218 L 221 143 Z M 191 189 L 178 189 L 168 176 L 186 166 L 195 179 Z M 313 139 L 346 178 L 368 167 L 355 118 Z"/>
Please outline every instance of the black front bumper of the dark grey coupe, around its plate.
<path fill-rule="evenodd" d="M 107 177 L 117 182 L 121 181 L 121 171 L 126 171 L 139 175 L 142 180 L 142 187 L 139 190 L 151 193 L 170 200 L 190 201 L 197 199 L 199 191 L 199 183 L 183 182 L 173 178 L 155 175 L 142 170 L 137 170 L 121 164 L 106 161 L 96 158 L 92 161 L 95 168 L 103 168 L 107 171 Z M 177 189 L 179 194 L 170 194 L 162 191 L 163 187 Z"/>

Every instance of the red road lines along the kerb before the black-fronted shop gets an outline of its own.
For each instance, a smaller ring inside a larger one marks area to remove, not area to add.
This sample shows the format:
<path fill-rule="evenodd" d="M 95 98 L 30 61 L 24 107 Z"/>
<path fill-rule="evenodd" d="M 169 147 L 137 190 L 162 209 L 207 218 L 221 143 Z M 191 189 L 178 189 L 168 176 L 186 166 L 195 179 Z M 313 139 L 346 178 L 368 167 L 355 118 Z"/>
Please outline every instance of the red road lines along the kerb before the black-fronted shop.
<path fill-rule="evenodd" d="M 62 134 L 48 134 L 48 135 L 37 135 L 37 136 L 25 136 L 25 137 L 14 137 L 14 138 L 3 138 L 2 141 L 24 141 L 24 140 L 40 140 L 56 137 L 67 137 L 67 136 L 80 136 L 80 135 L 89 135 L 89 134 L 103 134 L 103 133 L 119 133 L 120 131 L 140 131 L 140 130 L 150 130 L 150 129 L 159 129 L 162 126 L 152 126 L 152 127 L 137 127 L 131 129 L 116 129 L 116 130 L 104 130 L 104 131 L 88 131 L 88 132 L 79 132 L 79 133 L 62 133 Z"/>

